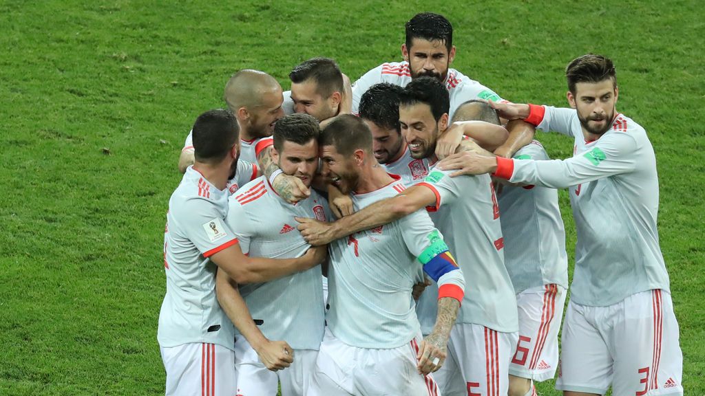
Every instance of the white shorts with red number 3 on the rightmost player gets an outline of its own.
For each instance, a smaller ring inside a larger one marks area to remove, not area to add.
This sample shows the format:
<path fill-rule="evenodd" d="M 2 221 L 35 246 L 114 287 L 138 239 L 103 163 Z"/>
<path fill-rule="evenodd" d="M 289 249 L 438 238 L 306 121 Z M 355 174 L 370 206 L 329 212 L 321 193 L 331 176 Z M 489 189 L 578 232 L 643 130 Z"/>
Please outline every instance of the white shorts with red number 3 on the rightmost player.
<path fill-rule="evenodd" d="M 556 389 L 682 395 L 683 354 L 670 294 L 649 290 L 608 307 L 568 302 Z"/>

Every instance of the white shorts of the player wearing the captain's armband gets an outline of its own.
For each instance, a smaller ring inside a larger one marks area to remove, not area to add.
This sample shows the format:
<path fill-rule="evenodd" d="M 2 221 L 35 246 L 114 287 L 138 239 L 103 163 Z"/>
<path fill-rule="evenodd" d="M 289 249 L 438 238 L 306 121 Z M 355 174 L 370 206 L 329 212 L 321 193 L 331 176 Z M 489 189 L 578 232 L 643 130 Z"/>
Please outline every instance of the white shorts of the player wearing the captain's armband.
<path fill-rule="evenodd" d="M 433 376 L 417 372 L 417 335 L 407 345 L 393 349 L 352 347 L 326 328 L 309 395 L 439 396 Z"/>

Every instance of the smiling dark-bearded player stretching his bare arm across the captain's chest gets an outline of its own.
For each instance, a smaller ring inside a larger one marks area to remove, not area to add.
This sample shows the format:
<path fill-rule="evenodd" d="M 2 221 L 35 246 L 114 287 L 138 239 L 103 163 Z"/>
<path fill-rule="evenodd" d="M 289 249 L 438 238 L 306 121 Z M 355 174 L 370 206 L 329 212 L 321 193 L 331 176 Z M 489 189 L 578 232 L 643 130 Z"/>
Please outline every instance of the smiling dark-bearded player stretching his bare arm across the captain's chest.
<path fill-rule="evenodd" d="M 400 97 L 402 134 L 414 158 L 434 162 L 436 140 L 448 125 L 448 90 L 434 78 L 418 78 Z M 494 128 L 502 128 L 491 125 Z M 505 395 L 514 352 L 517 304 L 504 266 L 499 208 L 489 175 L 450 178 L 431 173 L 396 197 L 381 200 L 334 223 L 301 219 L 300 232 L 313 245 L 379 227 L 427 207 L 446 235 L 468 287 L 453 326 L 449 359 L 436 373 L 443 395 Z"/>

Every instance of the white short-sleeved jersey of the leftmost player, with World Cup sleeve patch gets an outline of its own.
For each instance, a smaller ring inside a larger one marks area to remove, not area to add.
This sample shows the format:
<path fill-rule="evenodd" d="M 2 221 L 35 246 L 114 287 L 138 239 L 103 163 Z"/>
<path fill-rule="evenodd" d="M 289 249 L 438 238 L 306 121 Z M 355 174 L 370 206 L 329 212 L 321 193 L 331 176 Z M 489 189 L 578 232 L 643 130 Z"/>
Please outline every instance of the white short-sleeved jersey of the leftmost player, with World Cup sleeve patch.
<path fill-rule="evenodd" d="M 166 214 L 166 295 L 157 330 L 161 347 L 192 342 L 235 346 L 235 326 L 216 299 L 217 266 L 209 259 L 238 243 L 224 222 L 227 211 L 228 192 L 189 166 Z"/>

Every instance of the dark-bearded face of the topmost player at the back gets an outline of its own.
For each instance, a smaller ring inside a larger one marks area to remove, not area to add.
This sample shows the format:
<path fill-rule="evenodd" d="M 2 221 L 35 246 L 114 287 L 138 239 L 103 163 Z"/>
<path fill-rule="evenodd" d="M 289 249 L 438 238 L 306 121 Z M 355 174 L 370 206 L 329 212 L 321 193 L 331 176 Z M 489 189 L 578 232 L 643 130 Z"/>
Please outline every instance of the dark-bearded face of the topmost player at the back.
<path fill-rule="evenodd" d="M 411 47 L 407 48 L 403 44 L 401 52 L 404 60 L 409 62 L 412 79 L 427 75 L 443 82 L 455 58 L 455 47 L 448 51 L 442 40 L 412 39 Z"/>

